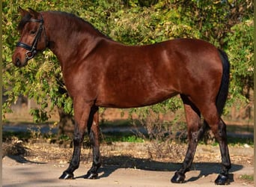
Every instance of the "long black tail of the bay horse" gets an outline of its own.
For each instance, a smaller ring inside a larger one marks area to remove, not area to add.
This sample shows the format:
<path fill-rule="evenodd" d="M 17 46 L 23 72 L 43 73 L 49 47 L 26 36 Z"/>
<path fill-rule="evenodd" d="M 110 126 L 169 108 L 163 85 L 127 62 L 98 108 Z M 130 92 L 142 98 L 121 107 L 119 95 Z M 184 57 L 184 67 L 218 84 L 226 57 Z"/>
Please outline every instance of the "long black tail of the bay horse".
<path fill-rule="evenodd" d="M 221 49 L 219 49 L 219 55 L 220 55 L 220 58 L 222 59 L 223 72 L 222 72 L 222 84 L 219 88 L 219 93 L 216 99 L 216 106 L 219 112 L 219 116 L 221 116 L 223 108 L 225 106 L 225 102 L 228 97 L 230 64 L 228 61 L 228 55 Z"/>

